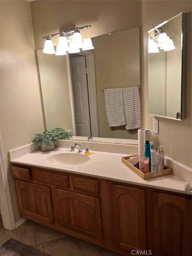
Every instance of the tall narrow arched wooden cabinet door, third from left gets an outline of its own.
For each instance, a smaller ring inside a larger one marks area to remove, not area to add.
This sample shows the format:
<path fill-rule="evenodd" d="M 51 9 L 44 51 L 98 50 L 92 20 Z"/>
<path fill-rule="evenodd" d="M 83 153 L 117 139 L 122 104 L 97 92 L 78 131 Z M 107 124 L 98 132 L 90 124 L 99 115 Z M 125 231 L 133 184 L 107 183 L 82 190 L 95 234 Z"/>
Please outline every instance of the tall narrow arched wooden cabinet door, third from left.
<path fill-rule="evenodd" d="M 145 191 L 113 185 L 114 220 L 119 251 L 146 249 Z M 122 249 L 122 250 L 121 250 Z"/>

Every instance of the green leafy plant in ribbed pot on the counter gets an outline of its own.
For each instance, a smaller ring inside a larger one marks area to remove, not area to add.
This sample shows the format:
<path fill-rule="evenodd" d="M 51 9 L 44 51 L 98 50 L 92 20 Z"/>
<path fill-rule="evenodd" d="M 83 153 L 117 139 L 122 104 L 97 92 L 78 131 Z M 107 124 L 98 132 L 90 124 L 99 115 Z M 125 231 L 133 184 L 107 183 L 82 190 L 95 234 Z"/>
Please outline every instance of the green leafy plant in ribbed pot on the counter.
<path fill-rule="evenodd" d="M 71 131 L 65 131 L 63 128 L 55 128 L 52 131 L 45 130 L 43 133 L 34 134 L 32 143 L 36 146 L 41 146 L 42 151 L 49 151 L 55 149 L 55 145 L 61 139 L 72 138 Z"/>

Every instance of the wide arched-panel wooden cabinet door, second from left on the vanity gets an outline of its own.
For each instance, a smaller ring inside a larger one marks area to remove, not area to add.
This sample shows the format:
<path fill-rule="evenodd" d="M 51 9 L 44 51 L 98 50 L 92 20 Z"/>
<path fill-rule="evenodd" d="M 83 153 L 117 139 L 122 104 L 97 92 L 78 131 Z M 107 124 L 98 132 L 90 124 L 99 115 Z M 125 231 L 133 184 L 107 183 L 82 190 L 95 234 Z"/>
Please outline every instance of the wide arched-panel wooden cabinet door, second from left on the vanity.
<path fill-rule="evenodd" d="M 102 239 L 100 199 L 53 188 L 55 222 L 82 235 Z"/>

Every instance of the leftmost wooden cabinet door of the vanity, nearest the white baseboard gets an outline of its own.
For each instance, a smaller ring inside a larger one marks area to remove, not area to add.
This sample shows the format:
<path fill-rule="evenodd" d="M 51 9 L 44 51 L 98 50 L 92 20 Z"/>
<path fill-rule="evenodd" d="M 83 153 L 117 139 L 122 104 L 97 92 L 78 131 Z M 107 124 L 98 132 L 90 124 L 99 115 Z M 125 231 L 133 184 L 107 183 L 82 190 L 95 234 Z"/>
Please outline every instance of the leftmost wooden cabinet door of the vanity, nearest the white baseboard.
<path fill-rule="evenodd" d="M 15 179 L 19 212 L 33 221 L 54 223 L 49 187 Z"/>

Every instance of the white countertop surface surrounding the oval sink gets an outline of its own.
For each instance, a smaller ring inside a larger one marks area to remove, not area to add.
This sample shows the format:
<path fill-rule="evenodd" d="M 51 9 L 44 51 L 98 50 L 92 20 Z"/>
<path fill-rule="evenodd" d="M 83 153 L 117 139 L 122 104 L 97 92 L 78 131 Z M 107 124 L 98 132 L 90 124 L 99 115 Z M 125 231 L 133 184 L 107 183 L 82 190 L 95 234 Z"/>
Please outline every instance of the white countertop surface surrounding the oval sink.
<path fill-rule="evenodd" d="M 70 152 L 68 148 L 56 148 L 47 152 L 37 150 L 12 159 L 10 162 L 184 193 L 185 182 L 174 175 L 147 180 L 140 178 L 121 162 L 121 158 L 128 156 L 128 154 L 122 155 L 92 150 L 90 152 L 90 160 L 83 164 L 52 164 L 46 160 L 47 157 L 58 153 L 84 155 L 84 150 L 78 153 L 77 150 Z"/>

